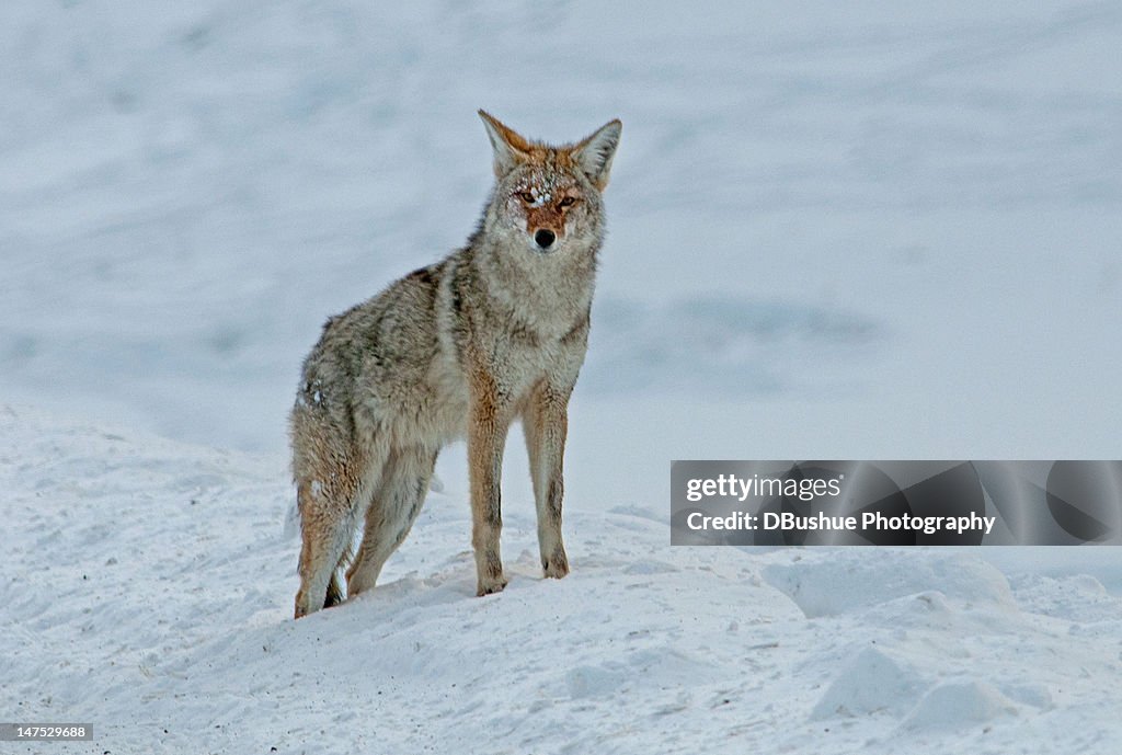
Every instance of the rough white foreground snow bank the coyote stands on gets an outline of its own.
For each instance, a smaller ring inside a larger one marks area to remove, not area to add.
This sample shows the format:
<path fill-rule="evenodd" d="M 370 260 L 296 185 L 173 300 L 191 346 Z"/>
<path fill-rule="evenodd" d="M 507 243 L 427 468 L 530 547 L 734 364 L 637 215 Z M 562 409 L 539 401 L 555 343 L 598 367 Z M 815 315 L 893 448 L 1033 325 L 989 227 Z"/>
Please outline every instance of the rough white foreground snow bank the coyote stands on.
<path fill-rule="evenodd" d="M 511 586 L 478 599 L 463 482 L 378 589 L 294 622 L 282 459 L 2 407 L 0 708 L 93 724 L 59 753 L 1107 755 L 1122 735 L 1122 601 L 1093 579 L 670 547 L 618 506 L 570 513 L 573 573 L 546 581 L 512 496 Z"/>

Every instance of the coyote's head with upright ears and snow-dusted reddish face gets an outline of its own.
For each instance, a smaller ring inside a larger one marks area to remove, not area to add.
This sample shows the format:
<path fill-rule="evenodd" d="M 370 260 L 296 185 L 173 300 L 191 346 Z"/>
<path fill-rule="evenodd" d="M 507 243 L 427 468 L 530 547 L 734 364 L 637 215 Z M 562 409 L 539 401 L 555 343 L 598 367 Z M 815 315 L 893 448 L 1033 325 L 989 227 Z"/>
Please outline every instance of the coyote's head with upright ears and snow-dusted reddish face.
<path fill-rule="evenodd" d="M 623 123 L 605 123 L 576 145 L 530 141 L 479 111 L 495 150 L 495 194 L 485 229 L 536 254 L 587 251 L 604 238 L 600 193 Z"/>

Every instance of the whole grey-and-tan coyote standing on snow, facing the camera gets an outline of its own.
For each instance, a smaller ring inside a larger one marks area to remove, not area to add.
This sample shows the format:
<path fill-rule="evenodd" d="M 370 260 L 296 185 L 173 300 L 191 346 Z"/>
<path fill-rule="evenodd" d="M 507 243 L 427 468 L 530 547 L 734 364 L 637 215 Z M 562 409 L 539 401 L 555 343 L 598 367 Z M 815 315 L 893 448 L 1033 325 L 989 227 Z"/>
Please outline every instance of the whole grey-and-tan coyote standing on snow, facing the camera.
<path fill-rule="evenodd" d="M 467 438 L 479 596 L 506 587 L 499 477 L 521 418 L 545 577 L 561 540 L 568 403 L 585 360 L 600 194 L 623 125 L 530 141 L 479 111 L 495 186 L 467 246 L 323 326 L 291 416 L 303 544 L 296 618 L 374 587 L 421 510 L 441 446 Z M 361 545 L 351 543 L 365 518 Z"/>

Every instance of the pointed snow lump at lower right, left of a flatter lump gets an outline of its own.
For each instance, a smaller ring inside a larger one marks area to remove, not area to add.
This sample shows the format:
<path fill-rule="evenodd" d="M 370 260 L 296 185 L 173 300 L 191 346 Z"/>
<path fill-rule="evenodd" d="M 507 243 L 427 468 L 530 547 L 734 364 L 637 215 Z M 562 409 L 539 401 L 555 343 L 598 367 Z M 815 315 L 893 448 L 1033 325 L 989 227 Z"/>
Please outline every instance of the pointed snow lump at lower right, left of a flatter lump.
<path fill-rule="evenodd" d="M 902 716 L 919 700 L 925 682 L 908 664 L 866 647 L 845 664 L 810 713 L 811 720 L 888 712 Z"/>

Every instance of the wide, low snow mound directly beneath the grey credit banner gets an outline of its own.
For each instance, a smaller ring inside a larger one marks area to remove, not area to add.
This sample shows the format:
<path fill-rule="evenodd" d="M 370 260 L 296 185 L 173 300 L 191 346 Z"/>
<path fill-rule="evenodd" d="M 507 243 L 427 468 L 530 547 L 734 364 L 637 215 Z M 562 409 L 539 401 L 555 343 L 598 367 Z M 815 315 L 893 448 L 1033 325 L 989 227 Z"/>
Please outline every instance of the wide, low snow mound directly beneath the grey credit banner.
<path fill-rule="evenodd" d="M 920 592 L 939 592 L 964 604 L 1015 607 L 1009 581 L 973 555 L 865 549 L 815 554 L 776 563 L 763 573 L 808 618 L 837 616 Z"/>

